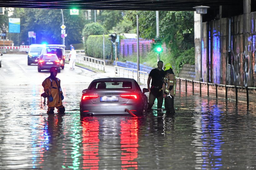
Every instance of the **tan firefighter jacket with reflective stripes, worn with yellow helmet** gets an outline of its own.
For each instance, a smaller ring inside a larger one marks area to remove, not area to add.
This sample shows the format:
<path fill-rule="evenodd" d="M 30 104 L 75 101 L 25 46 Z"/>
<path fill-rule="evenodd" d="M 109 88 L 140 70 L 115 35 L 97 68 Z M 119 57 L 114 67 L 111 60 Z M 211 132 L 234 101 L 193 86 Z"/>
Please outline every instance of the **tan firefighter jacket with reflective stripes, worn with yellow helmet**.
<path fill-rule="evenodd" d="M 173 72 L 172 72 L 173 73 Z M 176 78 L 174 73 L 166 73 L 164 78 L 163 92 L 167 95 L 175 96 L 176 94 Z"/>

